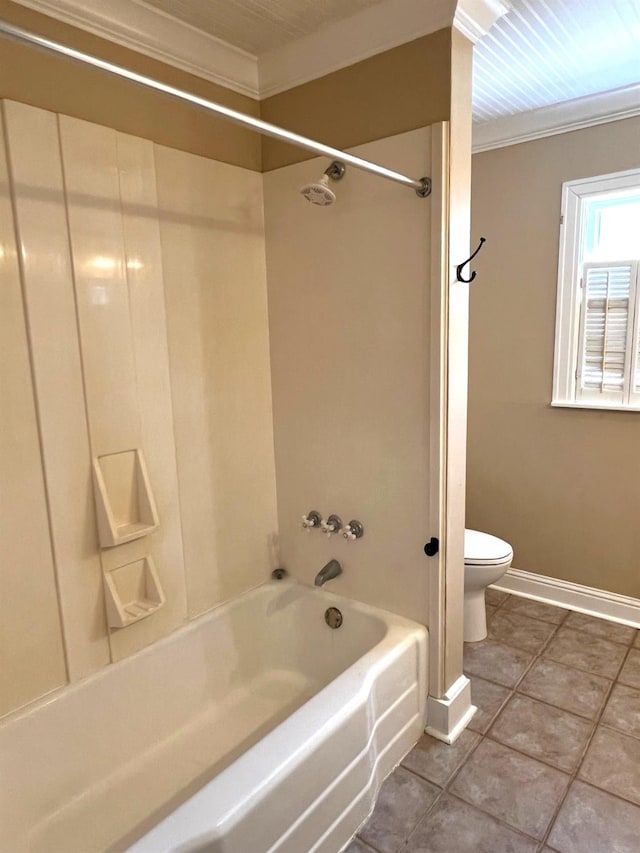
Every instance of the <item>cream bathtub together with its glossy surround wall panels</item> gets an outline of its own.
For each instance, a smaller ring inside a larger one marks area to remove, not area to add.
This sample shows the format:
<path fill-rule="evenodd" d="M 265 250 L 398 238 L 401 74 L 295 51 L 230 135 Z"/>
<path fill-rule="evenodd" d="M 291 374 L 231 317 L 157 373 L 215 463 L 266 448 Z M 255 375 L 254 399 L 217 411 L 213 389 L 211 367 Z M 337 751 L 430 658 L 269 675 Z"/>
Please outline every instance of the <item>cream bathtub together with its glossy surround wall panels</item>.
<path fill-rule="evenodd" d="M 0 433 L 0 756 L 16 766 L 2 843 L 122 849 L 150 832 L 170 849 L 186 820 L 221 851 L 262 853 L 248 839 L 276 792 L 267 811 L 292 811 L 268 824 L 274 849 L 333 851 L 426 718 L 431 203 L 352 172 L 322 210 L 298 193 L 316 161 L 263 178 L 24 104 L 3 121 L 2 369 L 22 372 L 4 386 L 19 454 Z M 439 134 L 355 151 L 425 174 Z M 324 298 L 305 266 L 319 246 Z M 91 471 L 108 479 L 120 454 L 144 458 L 157 513 L 100 542 Z M 307 536 L 314 505 L 365 536 Z M 362 605 L 307 588 L 331 558 L 332 589 Z M 108 623 L 105 585 L 149 560 L 158 606 Z M 298 583 L 260 587 L 280 563 Z M 201 826 L 209 796 L 222 811 Z M 235 827 L 239 804 L 251 819 Z"/>

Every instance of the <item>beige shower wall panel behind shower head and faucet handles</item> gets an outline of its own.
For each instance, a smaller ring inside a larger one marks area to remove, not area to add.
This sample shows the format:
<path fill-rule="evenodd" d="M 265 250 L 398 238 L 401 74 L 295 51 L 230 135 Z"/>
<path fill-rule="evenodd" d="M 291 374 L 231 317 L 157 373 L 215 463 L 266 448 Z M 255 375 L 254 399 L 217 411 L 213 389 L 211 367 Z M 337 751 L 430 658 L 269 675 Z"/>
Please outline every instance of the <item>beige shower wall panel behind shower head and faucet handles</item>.
<path fill-rule="evenodd" d="M 422 175 L 430 150 L 423 128 L 355 153 Z M 351 169 L 334 205 L 307 204 L 299 188 L 323 166 L 265 175 L 282 559 L 313 583 L 335 557 L 328 589 L 425 622 L 431 202 Z M 304 532 L 311 509 L 364 537 Z"/>

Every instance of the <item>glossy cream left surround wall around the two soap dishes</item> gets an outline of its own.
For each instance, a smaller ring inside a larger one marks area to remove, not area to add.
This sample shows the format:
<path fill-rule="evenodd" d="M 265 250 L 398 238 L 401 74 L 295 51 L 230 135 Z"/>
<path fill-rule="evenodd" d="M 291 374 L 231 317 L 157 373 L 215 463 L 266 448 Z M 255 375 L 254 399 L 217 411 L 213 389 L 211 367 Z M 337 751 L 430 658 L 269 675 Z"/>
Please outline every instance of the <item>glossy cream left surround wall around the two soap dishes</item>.
<path fill-rule="evenodd" d="M 261 176 L 2 107 L 0 714 L 261 583 L 276 528 Z M 100 547 L 92 464 L 132 448 L 160 525 Z M 166 603 L 107 627 L 149 556 Z"/>

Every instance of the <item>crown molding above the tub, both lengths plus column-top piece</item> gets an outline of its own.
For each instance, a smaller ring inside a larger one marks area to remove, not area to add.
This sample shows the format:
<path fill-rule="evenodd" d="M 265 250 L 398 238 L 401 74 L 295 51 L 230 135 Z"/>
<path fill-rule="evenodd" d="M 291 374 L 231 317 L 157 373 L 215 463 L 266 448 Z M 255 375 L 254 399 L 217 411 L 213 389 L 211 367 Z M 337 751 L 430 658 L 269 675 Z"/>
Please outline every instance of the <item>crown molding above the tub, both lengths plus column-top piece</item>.
<path fill-rule="evenodd" d="M 147 5 L 144 0 L 17 0 L 167 65 L 252 98 L 324 77 L 444 27 L 474 43 L 506 0 L 384 0 L 260 58 Z"/>

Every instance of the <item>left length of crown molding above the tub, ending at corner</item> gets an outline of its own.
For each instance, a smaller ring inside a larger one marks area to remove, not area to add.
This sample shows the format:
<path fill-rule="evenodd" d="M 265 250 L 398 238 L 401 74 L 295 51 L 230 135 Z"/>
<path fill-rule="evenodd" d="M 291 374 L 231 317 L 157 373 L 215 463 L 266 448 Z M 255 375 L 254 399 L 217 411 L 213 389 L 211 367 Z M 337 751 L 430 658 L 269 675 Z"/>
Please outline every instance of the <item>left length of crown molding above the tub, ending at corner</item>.
<path fill-rule="evenodd" d="M 255 56 L 140 0 L 17 2 L 234 92 L 252 98 L 260 95 Z"/>

